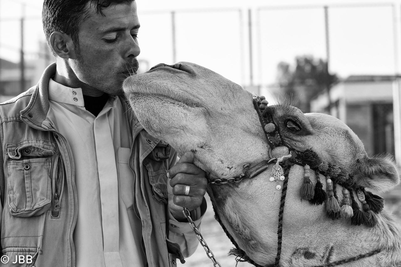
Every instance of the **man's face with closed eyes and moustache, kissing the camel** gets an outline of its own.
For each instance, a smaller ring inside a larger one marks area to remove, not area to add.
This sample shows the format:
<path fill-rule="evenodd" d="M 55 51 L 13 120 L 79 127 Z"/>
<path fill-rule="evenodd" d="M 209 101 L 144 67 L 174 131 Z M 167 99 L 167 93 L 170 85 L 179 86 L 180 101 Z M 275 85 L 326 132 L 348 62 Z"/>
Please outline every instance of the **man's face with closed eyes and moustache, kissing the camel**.
<path fill-rule="evenodd" d="M 81 23 L 77 59 L 70 60 L 70 65 L 81 82 L 122 95 L 124 79 L 138 70 L 136 2 L 111 5 L 102 12 L 104 16 L 92 6 L 90 17 Z"/>

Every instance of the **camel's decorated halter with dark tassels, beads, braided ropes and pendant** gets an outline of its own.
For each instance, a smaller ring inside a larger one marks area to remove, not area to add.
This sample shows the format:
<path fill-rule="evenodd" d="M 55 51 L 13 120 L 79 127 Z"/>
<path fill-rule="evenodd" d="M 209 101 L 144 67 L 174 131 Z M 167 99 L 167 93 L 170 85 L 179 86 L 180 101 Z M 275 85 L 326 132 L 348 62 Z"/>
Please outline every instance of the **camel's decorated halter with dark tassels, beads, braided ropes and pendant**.
<path fill-rule="evenodd" d="M 304 183 L 301 187 L 301 197 L 305 200 L 309 200 L 311 204 L 322 205 L 325 203 L 326 214 L 332 220 L 337 220 L 340 218 L 350 218 L 352 225 L 366 225 L 367 227 L 374 227 L 377 224 L 377 216 L 379 212 L 383 209 L 384 199 L 377 196 L 371 192 L 367 192 L 365 188 L 358 186 L 352 179 L 350 174 L 346 173 L 336 164 L 325 162 L 321 160 L 312 149 L 300 152 L 291 148 L 285 144 L 279 128 L 273 120 L 273 112 L 271 107 L 268 107 L 267 100 L 263 96 L 254 96 L 253 104 L 259 116 L 260 123 L 263 127 L 265 137 L 269 143 L 271 150 L 279 146 L 286 146 L 290 151 L 290 155 L 284 156 L 279 159 L 271 159 L 269 161 L 264 160 L 255 166 L 247 168 L 247 170 L 238 177 L 228 178 L 228 179 L 216 179 L 211 181 L 211 184 L 226 184 L 232 182 L 240 182 L 245 178 L 254 178 L 263 171 L 267 170 L 268 164 L 275 161 L 273 169 L 271 171 L 271 182 L 276 182 L 276 189 L 282 190 L 282 196 L 279 208 L 279 224 L 277 229 L 277 256 L 275 263 L 273 265 L 268 265 L 268 267 L 279 267 L 280 256 L 281 256 L 281 245 L 282 245 L 282 230 L 283 230 L 283 214 L 284 214 L 284 204 L 287 194 L 287 183 L 288 183 L 288 173 L 290 167 L 294 164 L 304 166 Z M 316 183 L 315 186 L 312 183 L 311 172 L 315 172 Z M 323 184 L 320 182 L 320 174 L 326 178 L 326 191 L 323 189 Z M 283 181 L 281 186 L 279 182 Z M 342 186 L 343 199 L 341 204 L 338 202 L 337 197 L 337 185 Z M 362 203 L 362 209 L 359 208 L 358 203 L 355 198 L 357 198 Z M 216 211 L 216 210 L 215 210 Z M 226 235 L 229 237 L 231 242 L 235 245 L 236 249 L 231 249 L 230 254 L 236 255 L 237 261 L 247 261 L 256 267 L 262 267 L 257 263 L 253 262 L 246 253 L 239 248 L 233 237 L 225 229 L 224 225 L 221 223 L 219 215 L 215 212 L 217 221 L 223 227 Z M 336 266 L 339 264 L 344 264 L 351 261 L 356 261 L 361 258 L 369 257 L 379 253 L 380 250 L 371 251 L 366 254 L 357 255 L 355 257 L 344 259 L 341 261 L 336 261 L 326 265 L 319 265 L 314 267 L 328 267 Z"/>

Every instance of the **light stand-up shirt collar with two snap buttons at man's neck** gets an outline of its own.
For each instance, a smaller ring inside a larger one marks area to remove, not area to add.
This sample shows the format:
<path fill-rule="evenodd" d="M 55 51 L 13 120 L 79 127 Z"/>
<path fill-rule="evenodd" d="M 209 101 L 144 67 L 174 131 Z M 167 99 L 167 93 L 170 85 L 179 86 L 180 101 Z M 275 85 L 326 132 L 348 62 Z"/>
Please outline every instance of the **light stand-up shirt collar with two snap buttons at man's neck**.
<path fill-rule="evenodd" d="M 81 88 L 67 87 L 55 82 L 52 78 L 49 80 L 49 100 L 75 106 L 85 106 Z"/>

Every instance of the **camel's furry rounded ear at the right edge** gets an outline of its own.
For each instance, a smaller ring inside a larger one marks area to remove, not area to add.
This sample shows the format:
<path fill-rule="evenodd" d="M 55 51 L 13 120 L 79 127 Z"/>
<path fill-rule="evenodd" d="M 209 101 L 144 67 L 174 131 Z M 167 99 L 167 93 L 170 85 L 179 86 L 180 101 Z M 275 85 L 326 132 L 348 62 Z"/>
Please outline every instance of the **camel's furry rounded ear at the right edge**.
<path fill-rule="evenodd" d="M 384 192 L 399 183 L 399 172 L 395 162 L 386 156 L 366 157 L 358 160 L 354 181 L 358 186 Z"/>

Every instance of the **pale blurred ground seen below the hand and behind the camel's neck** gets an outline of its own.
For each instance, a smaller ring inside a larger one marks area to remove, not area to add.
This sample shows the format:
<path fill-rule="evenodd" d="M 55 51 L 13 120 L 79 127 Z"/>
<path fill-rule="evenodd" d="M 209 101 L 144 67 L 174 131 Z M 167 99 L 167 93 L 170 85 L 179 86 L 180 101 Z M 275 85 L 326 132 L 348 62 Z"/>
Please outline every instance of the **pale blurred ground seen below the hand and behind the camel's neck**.
<path fill-rule="evenodd" d="M 385 197 L 385 208 L 392 214 L 394 214 L 399 223 L 401 223 L 401 185 L 397 186 L 395 190 L 387 194 L 379 194 Z M 233 267 L 235 266 L 235 256 L 227 256 L 229 250 L 233 247 L 228 237 L 225 235 L 223 229 L 220 227 L 217 220 L 214 218 L 214 212 L 209 196 L 205 196 L 208 204 L 208 209 L 202 220 L 201 233 L 205 239 L 207 245 L 215 255 L 216 261 L 218 261 L 222 267 Z M 198 249 L 195 253 L 185 259 L 186 263 L 181 264 L 178 261 L 178 266 L 182 267 L 205 267 L 213 266 L 213 262 L 206 255 L 205 250 L 199 244 Z M 251 267 L 253 265 L 249 263 L 238 263 L 237 267 Z"/>

